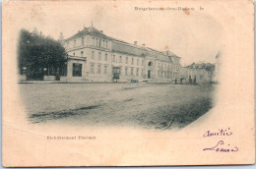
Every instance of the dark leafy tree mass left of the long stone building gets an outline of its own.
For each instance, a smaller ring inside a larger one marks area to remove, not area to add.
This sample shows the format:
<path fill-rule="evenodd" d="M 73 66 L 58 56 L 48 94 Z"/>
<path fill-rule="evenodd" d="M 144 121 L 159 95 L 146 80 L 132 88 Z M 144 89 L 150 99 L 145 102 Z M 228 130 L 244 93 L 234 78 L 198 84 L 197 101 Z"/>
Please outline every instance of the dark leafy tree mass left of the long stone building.
<path fill-rule="evenodd" d="M 65 48 L 50 36 L 22 29 L 19 39 L 18 63 L 20 74 L 27 69 L 32 79 L 43 75 L 59 76 L 67 61 Z"/>

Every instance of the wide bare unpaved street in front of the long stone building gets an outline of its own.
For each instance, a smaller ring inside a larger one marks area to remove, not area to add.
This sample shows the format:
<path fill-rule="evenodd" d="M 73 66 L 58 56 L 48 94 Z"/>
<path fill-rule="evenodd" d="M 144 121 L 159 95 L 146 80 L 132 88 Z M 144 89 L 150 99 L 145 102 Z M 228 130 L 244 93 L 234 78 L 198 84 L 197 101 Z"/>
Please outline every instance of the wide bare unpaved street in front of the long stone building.
<path fill-rule="evenodd" d="M 20 84 L 32 124 L 182 128 L 213 106 L 214 86 Z"/>

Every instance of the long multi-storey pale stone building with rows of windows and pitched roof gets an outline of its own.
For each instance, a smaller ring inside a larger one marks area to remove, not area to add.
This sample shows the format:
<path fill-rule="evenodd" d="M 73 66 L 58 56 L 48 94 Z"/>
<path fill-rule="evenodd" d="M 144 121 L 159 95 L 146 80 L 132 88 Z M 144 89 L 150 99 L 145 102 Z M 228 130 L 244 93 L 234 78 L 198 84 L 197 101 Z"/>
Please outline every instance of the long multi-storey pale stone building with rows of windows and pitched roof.
<path fill-rule="evenodd" d="M 171 82 L 179 78 L 180 57 L 109 37 L 93 25 L 63 40 L 63 45 L 69 56 L 62 81 Z"/>

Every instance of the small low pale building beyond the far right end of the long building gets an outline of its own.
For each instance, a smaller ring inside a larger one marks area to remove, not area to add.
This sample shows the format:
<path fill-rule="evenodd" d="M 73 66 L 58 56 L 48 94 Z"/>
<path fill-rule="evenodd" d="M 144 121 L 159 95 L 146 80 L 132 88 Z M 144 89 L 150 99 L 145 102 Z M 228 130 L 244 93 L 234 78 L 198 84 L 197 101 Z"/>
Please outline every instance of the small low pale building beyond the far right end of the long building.
<path fill-rule="evenodd" d="M 180 68 L 180 79 L 189 83 L 189 79 L 196 83 L 215 83 L 215 65 L 211 63 L 191 64 Z"/>

